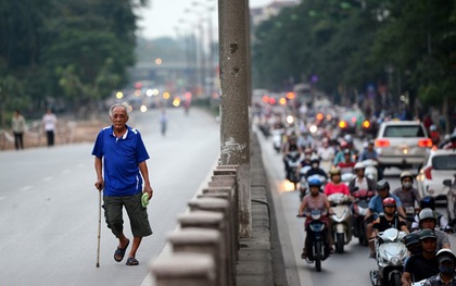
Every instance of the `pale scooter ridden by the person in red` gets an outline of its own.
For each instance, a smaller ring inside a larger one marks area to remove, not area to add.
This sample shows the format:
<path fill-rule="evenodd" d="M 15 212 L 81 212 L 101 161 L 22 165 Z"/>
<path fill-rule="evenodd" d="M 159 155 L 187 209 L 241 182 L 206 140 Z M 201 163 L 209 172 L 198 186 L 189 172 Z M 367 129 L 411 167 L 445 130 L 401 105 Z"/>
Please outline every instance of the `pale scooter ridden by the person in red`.
<path fill-rule="evenodd" d="M 352 240 L 352 211 L 350 210 L 352 201 L 344 194 L 332 194 L 328 196 L 328 200 L 334 212 L 330 216 L 329 227 L 335 245 L 335 251 L 343 253 L 344 246 Z"/>

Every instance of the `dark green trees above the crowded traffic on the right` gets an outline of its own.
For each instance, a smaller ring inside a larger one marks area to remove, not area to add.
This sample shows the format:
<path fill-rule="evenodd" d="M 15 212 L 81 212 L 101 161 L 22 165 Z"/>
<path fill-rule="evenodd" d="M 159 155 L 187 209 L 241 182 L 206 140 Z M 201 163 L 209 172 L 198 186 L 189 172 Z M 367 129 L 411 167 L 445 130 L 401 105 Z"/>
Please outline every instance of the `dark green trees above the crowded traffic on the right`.
<path fill-rule="evenodd" d="M 417 90 L 426 104 L 456 102 L 455 1 L 302 1 L 254 35 L 255 87 L 286 89 L 290 78 L 315 74 L 324 91 L 364 91 L 369 83 L 387 84 L 391 66 L 390 90 Z"/>

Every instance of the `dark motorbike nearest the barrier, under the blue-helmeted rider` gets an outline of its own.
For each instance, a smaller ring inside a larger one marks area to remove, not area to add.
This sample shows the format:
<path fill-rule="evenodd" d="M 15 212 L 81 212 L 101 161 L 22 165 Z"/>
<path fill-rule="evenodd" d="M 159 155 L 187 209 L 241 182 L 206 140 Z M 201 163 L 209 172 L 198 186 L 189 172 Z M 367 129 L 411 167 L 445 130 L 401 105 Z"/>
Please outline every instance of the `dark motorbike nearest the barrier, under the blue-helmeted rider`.
<path fill-rule="evenodd" d="M 321 262 L 329 257 L 328 228 L 322 220 L 324 215 L 326 213 L 320 210 L 314 210 L 303 215 L 307 217 L 305 223 L 307 262 L 315 262 L 315 269 L 318 272 L 321 271 Z"/>

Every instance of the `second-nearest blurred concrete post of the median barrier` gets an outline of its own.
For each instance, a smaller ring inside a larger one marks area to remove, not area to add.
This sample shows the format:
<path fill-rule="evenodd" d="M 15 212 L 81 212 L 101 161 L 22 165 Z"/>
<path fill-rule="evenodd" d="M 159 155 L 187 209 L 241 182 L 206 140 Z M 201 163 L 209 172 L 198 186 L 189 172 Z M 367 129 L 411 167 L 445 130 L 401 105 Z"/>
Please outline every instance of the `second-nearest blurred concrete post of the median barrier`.
<path fill-rule="evenodd" d="M 227 285 L 229 273 L 223 259 L 225 250 L 221 249 L 219 231 L 187 227 L 172 233 L 168 240 L 175 253 L 194 252 L 212 256 L 215 261 L 216 285 Z"/>

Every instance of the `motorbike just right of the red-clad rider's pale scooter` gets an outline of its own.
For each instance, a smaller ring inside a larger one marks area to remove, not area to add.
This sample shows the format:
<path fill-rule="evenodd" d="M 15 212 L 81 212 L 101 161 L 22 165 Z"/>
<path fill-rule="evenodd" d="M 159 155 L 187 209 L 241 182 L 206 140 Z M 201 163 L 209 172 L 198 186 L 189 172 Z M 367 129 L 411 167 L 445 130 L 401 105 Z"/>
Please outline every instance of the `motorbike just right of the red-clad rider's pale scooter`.
<path fill-rule="evenodd" d="M 358 238 L 359 245 L 367 246 L 368 241 L 364 219 L 369 209 L 369 201 L 375 196 L 375 192 L 373 190 L 356 189 L 352 192 L 352 196 L 355 198 L 355 201 L 352 204 L 353 235 Z"/>

